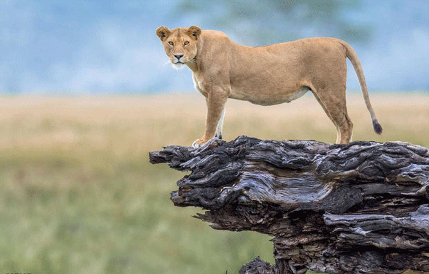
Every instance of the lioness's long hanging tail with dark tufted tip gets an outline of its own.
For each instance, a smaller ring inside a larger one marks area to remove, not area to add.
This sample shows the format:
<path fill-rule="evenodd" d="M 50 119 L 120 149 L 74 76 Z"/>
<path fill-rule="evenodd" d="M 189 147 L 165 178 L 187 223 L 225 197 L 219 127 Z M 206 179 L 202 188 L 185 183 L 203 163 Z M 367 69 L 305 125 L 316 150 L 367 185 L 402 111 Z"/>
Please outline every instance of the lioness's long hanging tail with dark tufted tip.
<path fill-rule="evenodd" d="M 350 46 L 346 42 L 341 41 L 341 44 L 343 44 L 345 48 L 345 54 L 347 58 L 349 58 L 350 62 L 352 62 L 354 71 L 356 72 L 356 75 L 358 77 L 360 89 L 362 89 L 363 93 L 363 99 L 365 100 L 365 104 L 367 105 L 367 109 L 369 111 L 369 114 L 371 115 L 372 127 L 374 127 L 374 131 L 376 131 L 376 134 L 381 134 L 381 132 L 383 132 L 383 127 L 381 127 L 381 125 L 378 123 L 374 113 L 374 109 L 372 109 L 371 102 L 369 101 L 367 82 L 365 81 L 365 75 L 363 75 L 363 69 L 362 65 L 360 64 L 358 55 L 356 54 L 356 51 L 354 51 L 352 46 Z"/>

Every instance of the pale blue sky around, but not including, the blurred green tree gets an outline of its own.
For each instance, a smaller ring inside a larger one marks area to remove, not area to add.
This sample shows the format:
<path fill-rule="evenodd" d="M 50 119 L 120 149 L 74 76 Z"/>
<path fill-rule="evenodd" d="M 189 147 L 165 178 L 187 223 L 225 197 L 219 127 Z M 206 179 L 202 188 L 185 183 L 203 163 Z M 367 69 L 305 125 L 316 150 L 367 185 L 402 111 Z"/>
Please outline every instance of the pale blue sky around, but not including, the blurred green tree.
<path fill-rule="evenodd" d="M 192 91 L 188 69 L 167 64 L 158 26 L 214 28 L 170 1 L 0 0 L 0 92 L 117 94 Z M 363 1 L 346 17 L 374 26 L 353 45 L 369 90 L 429 91 L 429 1 Z M 281 24 L 281 22 L 279 23 Z M 246 28 L 246 26 L 244 26 Z M 234 37 L 228 29 L 221 29 Z M 243 31 L 251 31 L 251 28 Z M 309 30 L 302 37 L 320 36 Z M 358 82 L 349 67 L 349 89 Z"/>

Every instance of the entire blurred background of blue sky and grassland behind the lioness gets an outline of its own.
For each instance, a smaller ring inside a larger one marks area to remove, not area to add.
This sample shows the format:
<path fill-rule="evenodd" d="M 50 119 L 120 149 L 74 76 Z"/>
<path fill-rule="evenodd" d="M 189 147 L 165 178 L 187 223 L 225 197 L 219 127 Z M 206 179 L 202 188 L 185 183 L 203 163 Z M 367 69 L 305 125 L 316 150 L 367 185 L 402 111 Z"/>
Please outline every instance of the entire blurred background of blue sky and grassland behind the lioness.
<path fill-rule="evenodd" d="M 429 147 L 429 1 L 0 0 L 0 269 L 5 273 L 237 273 L 270 237 L 212 230 L 174 208 L 181 172 L 148 152 L 190 145 L 206 104 L 169 64 L 158 26 L 262 46 L 330 36 L 363 64 L 383 135 L 349 66 L 354 140 Z M 223 137 L 336 140 L 308 93 L 227 102 Z"/>

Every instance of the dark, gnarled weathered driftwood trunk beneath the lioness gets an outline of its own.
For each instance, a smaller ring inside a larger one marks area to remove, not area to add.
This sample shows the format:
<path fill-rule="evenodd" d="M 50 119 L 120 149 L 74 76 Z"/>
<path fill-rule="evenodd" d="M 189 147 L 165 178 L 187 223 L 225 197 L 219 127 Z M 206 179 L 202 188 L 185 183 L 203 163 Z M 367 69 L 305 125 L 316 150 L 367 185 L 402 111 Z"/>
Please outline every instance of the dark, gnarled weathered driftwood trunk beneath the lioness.
<path fill-rule="evenodd" d="M 429 271 L 429 150 L 408 143 L 213 140 L 151 163 L 190 171 L 175 206 L 221 230 L 273 236 L 275 264 L 240 274 Z"/>

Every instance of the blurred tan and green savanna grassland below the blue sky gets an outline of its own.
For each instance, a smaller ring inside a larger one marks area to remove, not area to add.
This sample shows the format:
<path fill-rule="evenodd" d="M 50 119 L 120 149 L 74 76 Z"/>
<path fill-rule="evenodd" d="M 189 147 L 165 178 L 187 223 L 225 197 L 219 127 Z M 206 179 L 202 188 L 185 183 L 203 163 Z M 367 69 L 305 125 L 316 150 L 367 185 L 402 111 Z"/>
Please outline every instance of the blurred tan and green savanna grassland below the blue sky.
<path fill-rule="evenodd" d="M 354 140 L 429 147 L 429 95 L 372 95 L 383 135 L 360 94 L 349 95 Z M 0 98 L 0 271 L 3 273 L 237 273 L 270 237 L 212 230 L 174 208 L 184 174 L 148 152 L 203 134 L 201 95 Z M 336 140 L 311 94 L 259 107 L 228 101 L 223 137 Z"/>

